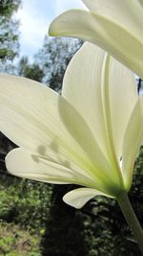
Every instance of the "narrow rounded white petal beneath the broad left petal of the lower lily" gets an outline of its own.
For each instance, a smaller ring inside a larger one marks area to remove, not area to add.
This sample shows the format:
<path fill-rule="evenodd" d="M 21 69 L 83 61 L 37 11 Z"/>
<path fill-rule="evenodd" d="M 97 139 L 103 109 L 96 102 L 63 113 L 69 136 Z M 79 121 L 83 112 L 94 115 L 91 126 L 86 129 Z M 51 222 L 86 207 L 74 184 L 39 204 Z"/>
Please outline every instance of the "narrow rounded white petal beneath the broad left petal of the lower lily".
<path fill-rule="evenodd" d="M 70 163 L 69 163 L 70 164 Z M 79 175 L 67 166 L 25 151 L 21 148 L 12 150 L 6 156 L 6 166 L 10 174 L 54 184 L 92 185 L 90 178 Z"/>

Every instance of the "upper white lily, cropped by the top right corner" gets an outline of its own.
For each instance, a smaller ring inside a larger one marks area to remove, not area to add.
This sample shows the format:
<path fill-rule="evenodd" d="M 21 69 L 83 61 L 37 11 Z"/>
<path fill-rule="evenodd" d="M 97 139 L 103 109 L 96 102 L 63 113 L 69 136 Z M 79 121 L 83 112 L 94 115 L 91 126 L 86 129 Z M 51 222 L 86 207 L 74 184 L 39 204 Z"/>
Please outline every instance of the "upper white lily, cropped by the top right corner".
<path fill-rule="evenodd" d="M 59 15 L 50 35 L 90 41 L 143 79 L 143 1 L 82 0 L 89 9 Z"/>

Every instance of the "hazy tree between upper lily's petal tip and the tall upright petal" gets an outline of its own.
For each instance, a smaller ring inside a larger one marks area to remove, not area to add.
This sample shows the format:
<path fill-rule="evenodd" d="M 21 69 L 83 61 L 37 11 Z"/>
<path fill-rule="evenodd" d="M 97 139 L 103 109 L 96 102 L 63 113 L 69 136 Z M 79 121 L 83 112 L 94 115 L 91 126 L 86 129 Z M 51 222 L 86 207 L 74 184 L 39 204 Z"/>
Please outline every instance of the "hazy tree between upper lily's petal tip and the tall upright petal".
<path fill-rule="evenodd" d="M 45 37 L 43 47 L 35 59 L 44 72 L 43 81 L 51 89 L 58 92 L 61 90 L 66 68 L 81 45 L 82 42 L 77 39 Z"/>

